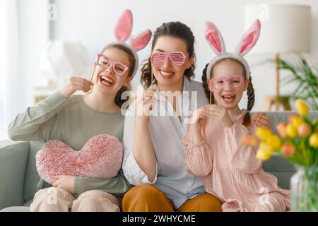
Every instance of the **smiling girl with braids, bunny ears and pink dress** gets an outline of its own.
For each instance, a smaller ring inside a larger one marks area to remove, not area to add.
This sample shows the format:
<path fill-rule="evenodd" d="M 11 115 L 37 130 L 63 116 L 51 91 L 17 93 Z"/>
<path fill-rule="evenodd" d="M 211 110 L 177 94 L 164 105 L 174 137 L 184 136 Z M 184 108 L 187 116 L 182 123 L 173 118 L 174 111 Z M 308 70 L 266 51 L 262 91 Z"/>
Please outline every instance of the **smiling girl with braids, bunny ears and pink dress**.
<path fill-rule="evenodd" d="M 257 20 L 231 54 L 225 51 L 216 26 L 206 23 L 206 40 L 218 55 L 206 65 L 202 76 L 211 104 L 196 110 L 182 140 L 187 148 L 187 170 L 204 178 L 206 191 L 223 202 L 223 211 L 290 208 L 290 192 L 279 188 L 276 177 L 264 172 L 257 150 L 241 141 L 257 128 L 249 113 L 254 105 L 254 89 L 243 56 L 254 47 L 259 33 Z M 238 106 L 245 90 L 247 110 Z"/>

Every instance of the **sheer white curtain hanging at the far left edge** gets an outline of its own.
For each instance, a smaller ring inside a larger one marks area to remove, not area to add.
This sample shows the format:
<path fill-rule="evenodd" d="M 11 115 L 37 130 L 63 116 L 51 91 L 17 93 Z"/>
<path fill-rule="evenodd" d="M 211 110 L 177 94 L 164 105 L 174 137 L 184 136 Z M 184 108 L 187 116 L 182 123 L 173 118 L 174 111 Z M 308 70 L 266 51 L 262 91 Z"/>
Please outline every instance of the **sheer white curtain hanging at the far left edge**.
<path fill-rule="evenodd" d="M 23 111 L 23 71 L 20 70 L 16 0 L 0 0 L 0 140 L 8 124 Z"/>

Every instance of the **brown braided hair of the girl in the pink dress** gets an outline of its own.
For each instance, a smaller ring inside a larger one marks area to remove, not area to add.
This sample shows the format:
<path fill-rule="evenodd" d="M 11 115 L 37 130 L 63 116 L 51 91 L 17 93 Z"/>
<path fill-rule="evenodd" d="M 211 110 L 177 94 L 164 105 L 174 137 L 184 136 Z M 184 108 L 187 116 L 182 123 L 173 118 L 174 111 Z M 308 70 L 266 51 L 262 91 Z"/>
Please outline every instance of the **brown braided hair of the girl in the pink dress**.
<path fill-rule="evenodd" d="M 240 61 L 237 61 L 237 60 L 232 59 L 232 58 L 221 59 L 216 64 L 214 64 L 213 68 L 217 64 L 219 64 L 221 61 L 225 61 L 225 60 L 234 61 L 237 64 L 240 64 L 240 66 L 242 66 L 242 69 L 243 69 L 243 76 L 246 78 L 247 72 L 245 71 L 245 67 L 243 66 L 243 64 Z M 213 68 L 211 70 L 211 73 L 213 72 Z M 208 80 L 206 78 L 206 70 L 207 69 L 208 69 L 208 64 L 206 64 L 204 70 L 202 71 L 202 85 L 204 88 L 204 92 L 206 93 L 206 97 L 208 98 L 208 100 L 210 100 L 210 88 L 208 88 Z M 253 84 L 252 84 L 252 77 L 249 76 L 249 85 L 247 86 L 247 112 L 245 113 L 243 123 L 242 123 L 244 126 L 249 126 L 249 124 L 251 123 L 251 115 L 249 114 L 249 112 L 251 112 L 252 107 L 254 106 L 254 102 L 255 102 L 255 94 L 254 94 L 254 88 L 253 88 Z M 211 103 L 212 103 L 212 105 L 214 105 L 216 103 L 216 100 L 214 99 L 213 93 L 212 93 Z"/>

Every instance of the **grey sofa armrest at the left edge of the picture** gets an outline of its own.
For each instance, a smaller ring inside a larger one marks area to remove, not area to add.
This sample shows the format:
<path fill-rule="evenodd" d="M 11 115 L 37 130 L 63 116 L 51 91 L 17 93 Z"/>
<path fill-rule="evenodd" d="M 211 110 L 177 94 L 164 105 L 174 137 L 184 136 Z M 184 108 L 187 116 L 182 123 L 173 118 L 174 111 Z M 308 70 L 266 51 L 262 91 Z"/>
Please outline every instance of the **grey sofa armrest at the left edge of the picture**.
<path fill-rule="evenodd" d="M 23 205 L 28 154 L 27 141 L 0 141 L 0 210 Z"/>

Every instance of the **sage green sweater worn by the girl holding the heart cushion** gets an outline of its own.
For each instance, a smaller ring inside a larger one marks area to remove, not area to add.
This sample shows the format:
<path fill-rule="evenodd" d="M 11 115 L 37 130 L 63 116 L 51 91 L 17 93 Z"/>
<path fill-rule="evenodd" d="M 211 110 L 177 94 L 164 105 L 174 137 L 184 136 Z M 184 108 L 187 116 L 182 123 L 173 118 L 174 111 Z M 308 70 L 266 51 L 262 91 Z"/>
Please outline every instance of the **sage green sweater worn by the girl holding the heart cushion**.
<path fill-rule="evenodd" d="M 100 134 L 115 136 L 122 141 L 124 116 L 121 112 L 99 112 L 86 105 L 83 95 L 71 95 L 65 99 L 59 91 L 38 102 L 34 107 L 18 114 L 8 127 L 8 136 L 13 141 L 63 141 L 73 150 Z M 38 189 L 51 186 L 44 180 Z M 102 190 L 122 196 L 131 184 L 127 182 L 122 169 L 117 177 L 99 179 L 75 177 L 74 194 L 89 190 Z"/>

